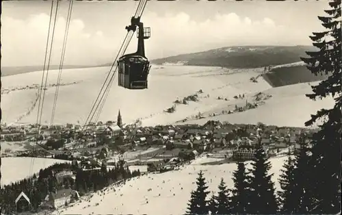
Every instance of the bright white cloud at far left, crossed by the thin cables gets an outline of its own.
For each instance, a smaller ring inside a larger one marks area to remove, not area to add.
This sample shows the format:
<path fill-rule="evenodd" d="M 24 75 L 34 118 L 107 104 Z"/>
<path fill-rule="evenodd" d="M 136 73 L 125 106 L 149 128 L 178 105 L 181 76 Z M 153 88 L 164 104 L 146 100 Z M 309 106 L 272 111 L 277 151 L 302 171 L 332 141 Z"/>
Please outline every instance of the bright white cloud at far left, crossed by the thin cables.
<path fill-rule="evenodd" d="M 47 44 L 49 16 L 38 14 L 27 21 L 11 17 L 1 17 L 1 63 L 3 66 L 42 65 Z M 60 62 L 66 19 L 57 18 L 53 42 L 51 64 Z M 52 35 L 52 25 L 51 34 Z M 70 21 L 66 57 L 64 64 L 102 63 L 101 53 L 110 44 L 101 36 L 101 31 L 91 34 L 85 30 L 85 24 L 79 19 Z M 51 39 L 50 39 L 51 40 Z"/>

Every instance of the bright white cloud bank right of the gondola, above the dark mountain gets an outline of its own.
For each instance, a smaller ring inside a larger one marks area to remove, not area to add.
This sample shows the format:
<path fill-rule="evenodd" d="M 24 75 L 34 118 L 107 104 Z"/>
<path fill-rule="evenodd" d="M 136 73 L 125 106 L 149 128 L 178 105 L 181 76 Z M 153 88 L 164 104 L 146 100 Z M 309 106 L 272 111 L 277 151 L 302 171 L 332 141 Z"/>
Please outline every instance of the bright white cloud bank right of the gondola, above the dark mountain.
<path fill-rule="evenodd" d="M 151 38 L 146 47 L 153 50 L 153 55 L 186 53 L 213 46 L 298 45 L 301 42 L 291 36 L 293 30 L 276 25 L 267 17 L 252 21 L 230 13 L 216 14 L 214 18 L 195 22 L 185 14 L 172 17 L 147 14 L 143 21 L 151 27 Z"/>

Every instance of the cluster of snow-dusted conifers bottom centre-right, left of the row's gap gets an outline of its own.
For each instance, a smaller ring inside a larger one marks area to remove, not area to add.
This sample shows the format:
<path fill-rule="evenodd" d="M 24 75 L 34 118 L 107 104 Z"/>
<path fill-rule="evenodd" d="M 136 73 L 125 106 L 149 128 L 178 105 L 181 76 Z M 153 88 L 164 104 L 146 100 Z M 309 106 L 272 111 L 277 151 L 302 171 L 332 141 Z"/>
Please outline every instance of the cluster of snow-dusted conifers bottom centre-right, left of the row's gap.
<path fill-rule="evenodd" d="M 252 168 L 246 170 L 244 162 L 237 163 L 233 173 L 234 188 L 226 188 L 224 179 L 218 186 L 219 192 L 213 194 L 209 201 L 206 179 L 202 171 L 198 174 L 197 188 L 192 191 L 187 214 L 277 214 L 278 201 L 268 174 L 271 165 L 263 147 L 259 145 Z"/>

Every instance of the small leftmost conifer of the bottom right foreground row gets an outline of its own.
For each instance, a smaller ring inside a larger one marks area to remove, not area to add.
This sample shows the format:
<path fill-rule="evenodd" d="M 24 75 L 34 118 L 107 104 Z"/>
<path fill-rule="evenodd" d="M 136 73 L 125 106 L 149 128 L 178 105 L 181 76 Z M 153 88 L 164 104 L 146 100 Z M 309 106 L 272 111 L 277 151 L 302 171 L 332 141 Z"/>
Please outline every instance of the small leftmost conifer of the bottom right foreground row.
<path fill-rule="evenodd" d="M 205 182 L 205 177 L 203 177 L 202 170 L 198 173 L 196 184 L 197 188 L 192 191 L 191 199 L 188 203 L 187 214 L 208 214 L 209 208 L 206 198 L 209 191 L 207 191 L 208 186 Z"/>

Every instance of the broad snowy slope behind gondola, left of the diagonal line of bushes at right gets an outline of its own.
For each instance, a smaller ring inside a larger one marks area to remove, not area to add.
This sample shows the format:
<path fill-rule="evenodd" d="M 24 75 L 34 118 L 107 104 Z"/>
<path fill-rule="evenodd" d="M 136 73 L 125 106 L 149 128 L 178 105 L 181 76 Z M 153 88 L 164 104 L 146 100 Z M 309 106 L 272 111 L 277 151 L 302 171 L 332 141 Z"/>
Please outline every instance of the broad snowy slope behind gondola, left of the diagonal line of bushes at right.
<path fill-rule="evenodd" d="M 108 67 L 66 69 L 58 94 L 55 123 L 82 123 L 86 120 L 99 90 L 105 80 Z M 217 97 L 233 99 L 236 94 L 252 93 L 271 88 L 263 79 L 252 83 L 262 69 L 231 70 L 202 66 L 152 66 L 147 90 L 127 90 L 118 87 L 117 76 L 111 87 L 103 112 L 102 121 L 116 120 L 118 109 L 124 123 L 143 118 L 143 125 L 174 123 L 186 116 L 205 112 L 222 105 Z M 42 72 L 24 73 L 2 77 L 3 89 L 20 89 L 40 84 Z M 49 71 L 48 88 L 44 99 L 42 123 L 49 123 L 55 93 L 57 71 Z M 75 84 L 74 84 L 75 83 Z M 203 90 L 200 101 L 189 105 L 177 105 L 176 112 L 163 112 L 177 98 L 183 99 L 198 90 Z M 14 90 L 1 95 L 3 121 L 7 123 L 35 123 L 38 104 L 35 89 Z M 139 108 L 136 108 L 138 105 Z M 30 112 L 29 110 L 33 108 Z M 29 114 L 27 114 L 29 112 Z"/>

